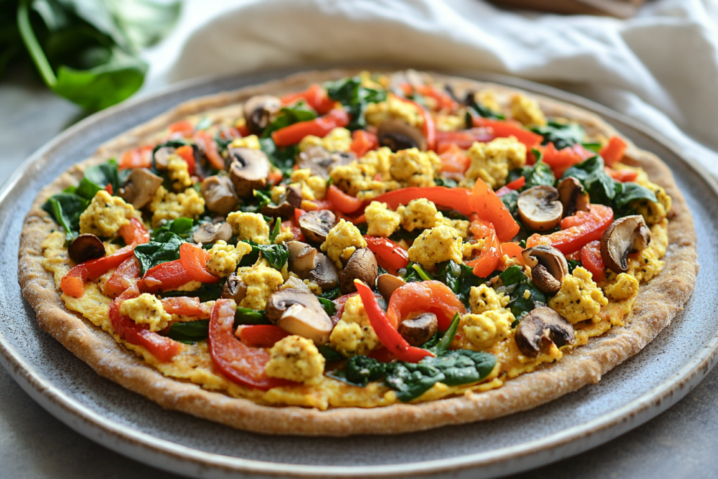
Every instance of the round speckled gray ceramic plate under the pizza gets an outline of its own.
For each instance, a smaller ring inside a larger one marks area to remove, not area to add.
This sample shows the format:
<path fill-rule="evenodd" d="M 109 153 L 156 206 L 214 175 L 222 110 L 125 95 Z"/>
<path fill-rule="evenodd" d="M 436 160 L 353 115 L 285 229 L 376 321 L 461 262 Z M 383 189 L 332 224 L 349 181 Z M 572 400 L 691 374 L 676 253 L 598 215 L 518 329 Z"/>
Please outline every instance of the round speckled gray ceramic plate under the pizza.
<path fill-rule="evenodd" d="M 68 426 L 135 460 L 182 475 L 488 478 L 596 447 L 660 414 L 710 371 L 718 350 L 718 189 L 656 132 L 582 98 L 516 78 L 457 73 L 541 93 L 593 111 L 673 170 L 696 218 L 699 261 L 685 310 L 638 355 L 596 385 L 531 411 L 399 437 L 268 437 L 167 411 L 101 378 L 37 327 L 17 284 L 22 219 L 37 191 L 108 139 L 196 96 L 293 71 L 195 81 L 81 121 L 25 162 L 0 192 L 0 363 Z"/>

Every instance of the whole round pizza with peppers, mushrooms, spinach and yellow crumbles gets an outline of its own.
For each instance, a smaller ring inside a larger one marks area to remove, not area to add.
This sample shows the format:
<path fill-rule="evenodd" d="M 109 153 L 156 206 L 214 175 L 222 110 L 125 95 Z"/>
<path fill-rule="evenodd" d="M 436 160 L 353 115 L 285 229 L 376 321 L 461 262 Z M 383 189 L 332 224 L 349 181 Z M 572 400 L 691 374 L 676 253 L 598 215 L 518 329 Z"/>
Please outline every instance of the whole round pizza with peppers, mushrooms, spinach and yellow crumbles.
<path fill-rule="evenodd" d="M 670 170 L 504 85 L 332 70 L 197 98 L 39 192 L 39 325 L 168 409 L 393 434 L 600 381 L 693 292 Z"/>

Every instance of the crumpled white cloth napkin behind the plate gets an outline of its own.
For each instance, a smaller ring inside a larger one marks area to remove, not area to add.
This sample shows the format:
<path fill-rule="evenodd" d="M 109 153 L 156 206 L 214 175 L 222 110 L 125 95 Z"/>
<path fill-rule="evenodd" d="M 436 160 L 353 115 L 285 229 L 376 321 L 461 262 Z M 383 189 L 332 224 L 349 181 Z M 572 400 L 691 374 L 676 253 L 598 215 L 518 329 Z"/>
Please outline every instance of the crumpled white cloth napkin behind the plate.
<path fill-rule="evenodd" d="M 363 60 L 488 70 L 561 82 L 718 176 L 717 19 L 712 0 L 657 0 L 625 21 L 480 0 L 190 0 L 177 31 L 148 53 L 148 83 Z"/>

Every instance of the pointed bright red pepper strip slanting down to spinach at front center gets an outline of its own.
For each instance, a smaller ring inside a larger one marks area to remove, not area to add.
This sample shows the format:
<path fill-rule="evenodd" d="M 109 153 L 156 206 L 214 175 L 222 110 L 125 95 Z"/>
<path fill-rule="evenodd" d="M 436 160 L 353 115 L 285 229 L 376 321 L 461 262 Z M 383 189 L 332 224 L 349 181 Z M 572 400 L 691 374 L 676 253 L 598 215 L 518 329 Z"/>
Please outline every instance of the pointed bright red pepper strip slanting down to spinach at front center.
<path fill-rule="evenodd" d="M 431 351 L 409 345 L 396 328 L 392 327 L 388 322 L 370 287 L 359 279 L 355 279 L 354 284 L 357 287 L 364 310 L 369 317 L 371 327 L 376 332 L 377 338 L 398 360 L 406 361 L 407 363 L 418 363 L 426 356 L 435 356 Z"/>

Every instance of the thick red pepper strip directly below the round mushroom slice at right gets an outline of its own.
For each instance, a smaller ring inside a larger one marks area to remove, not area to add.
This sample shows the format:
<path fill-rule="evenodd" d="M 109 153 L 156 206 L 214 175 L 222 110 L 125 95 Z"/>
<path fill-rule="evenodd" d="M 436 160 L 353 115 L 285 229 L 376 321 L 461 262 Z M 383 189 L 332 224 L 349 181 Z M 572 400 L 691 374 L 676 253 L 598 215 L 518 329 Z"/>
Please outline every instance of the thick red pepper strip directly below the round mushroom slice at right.
<path fill-rule="evenodd" d="M 541 236 L 536 233 L 526 240 L 526 248 L 550 244 L 561 253 L 572 254 L 587 243 L 598 240 L 613 221 L 613 210 L 605 205 L 590 205 L 590 211 L 578 211 L 561 220 L 561 231 Z"/>

